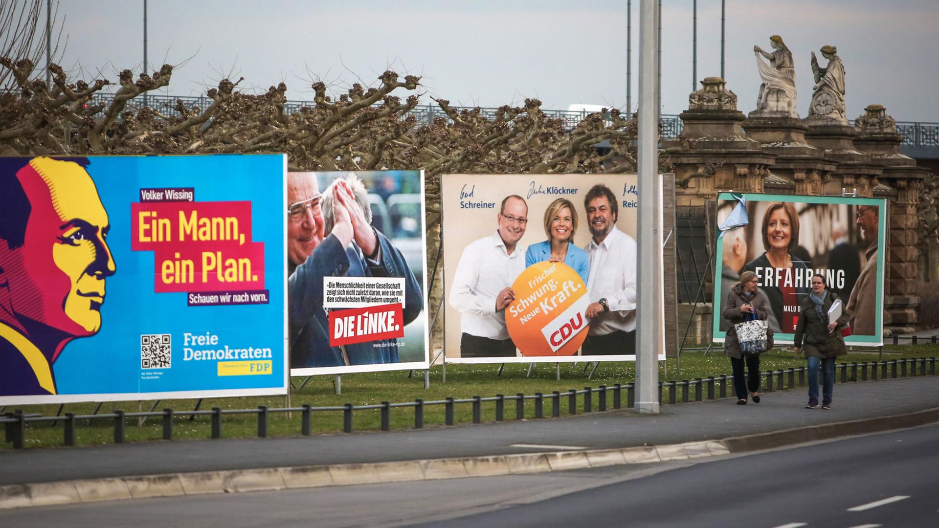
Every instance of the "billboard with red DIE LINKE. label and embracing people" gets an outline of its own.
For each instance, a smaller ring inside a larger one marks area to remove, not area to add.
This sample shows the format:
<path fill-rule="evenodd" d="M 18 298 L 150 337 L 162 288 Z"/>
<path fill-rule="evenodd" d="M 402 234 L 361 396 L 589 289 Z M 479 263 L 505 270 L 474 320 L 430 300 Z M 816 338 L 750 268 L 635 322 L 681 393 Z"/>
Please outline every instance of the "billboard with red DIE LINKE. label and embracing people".
<path fill-rule="evenodd" d="M 290 374 L 426 368 L 423 171 L 287 175 Z"/>

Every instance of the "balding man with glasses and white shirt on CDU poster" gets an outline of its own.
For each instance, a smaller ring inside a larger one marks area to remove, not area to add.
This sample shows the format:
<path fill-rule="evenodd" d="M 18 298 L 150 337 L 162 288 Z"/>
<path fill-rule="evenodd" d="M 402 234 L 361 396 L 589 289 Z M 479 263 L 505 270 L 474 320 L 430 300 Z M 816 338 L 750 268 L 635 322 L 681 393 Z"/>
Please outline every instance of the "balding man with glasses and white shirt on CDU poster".
<path fill-rule="evenodd" d="M 497 216 L 499 229 L 463 250 L 450 287 L 450 305 L 460 314 L 460 357 L 515 357 L 516 346 L 505 326 L 505 308 L 516 298 L 512 289 L 525 271 L 525 248 L 518 243 L 528 224 L 528 204 L 506 196 Z"/>

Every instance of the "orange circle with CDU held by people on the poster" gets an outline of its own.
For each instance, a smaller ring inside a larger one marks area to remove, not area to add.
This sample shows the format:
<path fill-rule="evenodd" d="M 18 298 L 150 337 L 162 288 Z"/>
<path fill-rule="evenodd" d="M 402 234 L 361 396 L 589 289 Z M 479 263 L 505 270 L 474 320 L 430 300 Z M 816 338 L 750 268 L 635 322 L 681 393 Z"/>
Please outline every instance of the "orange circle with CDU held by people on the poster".
<path fill-rule="evenodd" d="M 523 356 L 573 356 L 587 338 L 587 286 L 563 262 L 536 262 L 518 275 L 505 308 L 509 335 Z"/>

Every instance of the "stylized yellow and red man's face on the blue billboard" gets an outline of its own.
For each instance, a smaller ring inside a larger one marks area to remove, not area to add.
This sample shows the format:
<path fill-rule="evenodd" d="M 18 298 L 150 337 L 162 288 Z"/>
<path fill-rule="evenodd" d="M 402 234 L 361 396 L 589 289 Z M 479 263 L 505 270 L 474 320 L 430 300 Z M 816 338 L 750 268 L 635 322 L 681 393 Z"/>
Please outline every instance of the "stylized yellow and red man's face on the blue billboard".
<path fill-rule="evenodd" d="M 104 280 L 115 272 L 110 225 L 98 190 L 78 163 L 36 158 L 17 178 L 30 204 L 23 246 L 6 273 L 13 311 L 65 334 L 101 328 Z"/>

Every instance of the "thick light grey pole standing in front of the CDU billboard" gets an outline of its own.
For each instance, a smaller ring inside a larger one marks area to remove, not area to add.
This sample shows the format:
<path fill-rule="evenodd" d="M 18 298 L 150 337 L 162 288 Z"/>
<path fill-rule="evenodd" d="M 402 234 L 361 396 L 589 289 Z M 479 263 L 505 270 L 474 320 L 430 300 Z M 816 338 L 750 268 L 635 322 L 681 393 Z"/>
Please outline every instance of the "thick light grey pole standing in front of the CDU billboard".
<path fill-rule="evenodd" d="M 662 227 L 658 176 L 658 11 L 639 5 L 639 234 L 636 332 L 636 411 L 658 413 L 658 350 L 662 340 Z M 646 287 L 648 285 L 648 287 Z"/>

